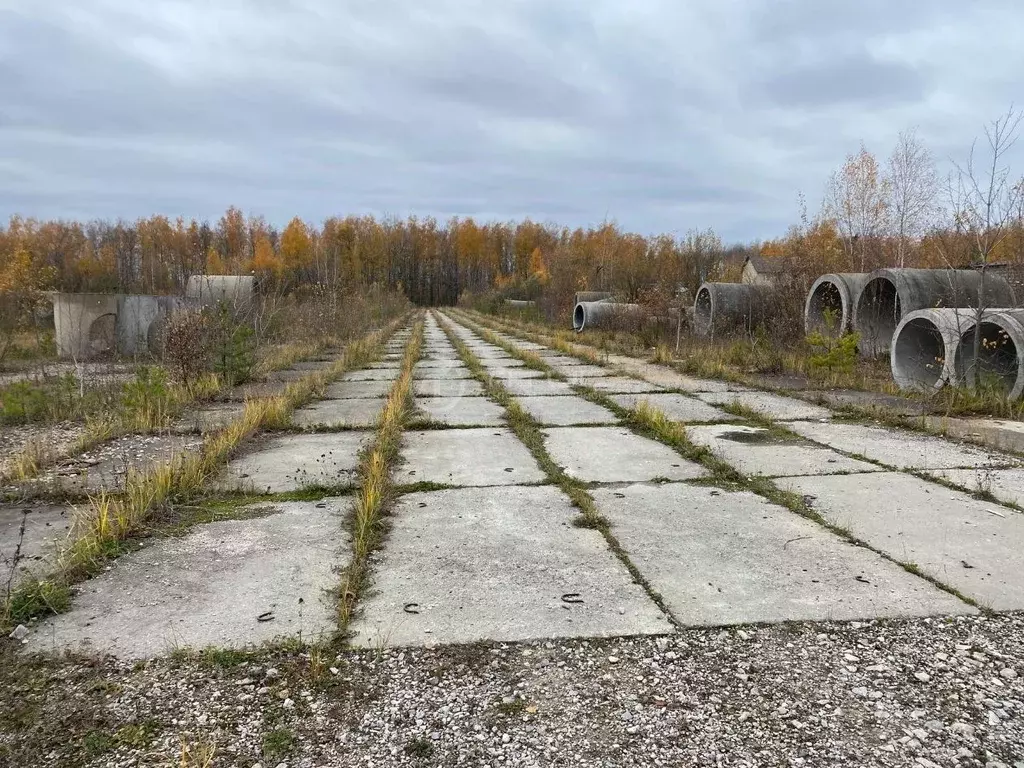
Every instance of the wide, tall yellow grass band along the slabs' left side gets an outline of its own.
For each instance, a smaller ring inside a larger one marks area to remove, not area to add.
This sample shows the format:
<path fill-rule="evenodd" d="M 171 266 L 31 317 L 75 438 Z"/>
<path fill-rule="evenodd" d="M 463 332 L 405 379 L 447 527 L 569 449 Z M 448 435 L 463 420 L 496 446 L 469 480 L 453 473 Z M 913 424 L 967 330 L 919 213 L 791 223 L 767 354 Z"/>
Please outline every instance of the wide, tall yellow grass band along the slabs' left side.
<path fill-rule="evenodd" d="M 246 439 L 259 430 L 288 426 L 292 412 L 323 392 L 331 381 L 380 357 L 384 341 L 402 322 L 396 319 L 353 341 L 330 369 L 292 382 L 283 395 L 248 400 L 242 415 L 207 435 L 198 452 L 179 454 L 144 472 L 130 472 L 122 494 L 90 497 L 76 511 L 72 534 L 60 546 L 53 571 L 42 579 L 10 582 L 2 596 L 0 626 L 66 610 L 74 584 L 98 572 L 103 563 L 122 554 L 128 540 L 143 532 L 162 510 L 194 501 Z"/>

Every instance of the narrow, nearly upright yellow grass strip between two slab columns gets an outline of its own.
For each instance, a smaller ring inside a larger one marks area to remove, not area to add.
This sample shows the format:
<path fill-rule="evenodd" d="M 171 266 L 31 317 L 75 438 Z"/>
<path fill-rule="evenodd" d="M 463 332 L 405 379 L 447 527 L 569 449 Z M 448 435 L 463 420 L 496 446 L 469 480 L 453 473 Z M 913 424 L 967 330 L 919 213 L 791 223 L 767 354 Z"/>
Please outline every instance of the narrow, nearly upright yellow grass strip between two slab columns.
<path fill-rule="evenodd" d="M 368 583 L 370 555 L 387 536 L 387 512 L 396 496 L 393 470 L 401 434 L 413 413 L 413 368 L 423 347 L 423 321 L 417 322 L 406 346 L 401 371 L 388 393 L 377 422 L 377 433 L 358 467 L 358 496 L 351 513 L 352 559 L 341 579 L 338 627 L 347 633 L 359 596 Z"/>

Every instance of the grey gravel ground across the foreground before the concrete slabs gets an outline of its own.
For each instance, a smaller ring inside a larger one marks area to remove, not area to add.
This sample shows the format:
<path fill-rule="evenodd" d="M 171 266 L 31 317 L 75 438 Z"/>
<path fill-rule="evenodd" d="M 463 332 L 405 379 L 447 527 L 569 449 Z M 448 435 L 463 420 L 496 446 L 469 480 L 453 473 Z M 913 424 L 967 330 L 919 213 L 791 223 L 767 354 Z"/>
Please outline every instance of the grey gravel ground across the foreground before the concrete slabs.
<path fill-rule="evenodd" d="M 8 651 L 0 764 L 215 745 L 208 765 L 246 768 L 1022 768 L 1021 675 L 1019 614 L 134 666 Z"/>

